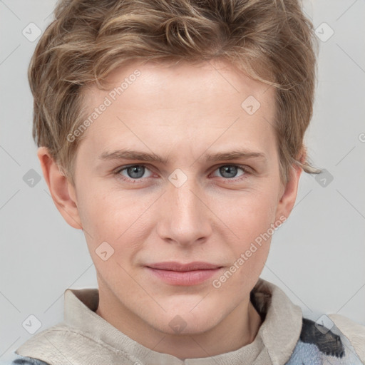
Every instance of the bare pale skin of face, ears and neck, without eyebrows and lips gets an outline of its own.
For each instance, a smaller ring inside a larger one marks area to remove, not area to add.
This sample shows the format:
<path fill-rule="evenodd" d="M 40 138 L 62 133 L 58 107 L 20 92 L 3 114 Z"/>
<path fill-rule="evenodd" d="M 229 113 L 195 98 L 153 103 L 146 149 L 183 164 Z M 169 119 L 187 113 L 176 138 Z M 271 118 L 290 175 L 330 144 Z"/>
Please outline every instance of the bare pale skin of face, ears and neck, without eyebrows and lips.
<path fill-rule="evenodd" d="M 287 185 L 280 181 L 271 124 L 274 88 L 217 60 L 134 63 L 110 73 L 111 86 L 137 68 L 136 81 L 84 132 L 75 185 L 41 147 L 43 175 L 66 222 L 85 233 L 97 272 L 98 315 L 140 344 L 180 359 L 234 351 L 250 344 L 261 325 L 250 291 L 271 237 L 219 288 L 212 281 L 256 237 L 289 216 L 302 172 L 294 167 Z M 95 86 L 85 91 L 91 112 L 108 92 Z M 241 107 L 248 96 L 261 104 L 253 115 Z M 121 148 L 155 153 L 168 163 L 100 158 Z M 264 158 L 205 160 L 208 153 L 238 148 Z M 126 169 L 113 173 L 133 164 L 145 165 L 134 182 Z M 244 165 L 250 173 L 239 167 L 231 173 L 220 170 L 232 165 Z M 175 169 L 187 178 L 180 187 L 168 180 Z M 106 261 L 96 254 L 101 242 L 114 249 Z M 222 269 L 202 284 L 176 286 L 144 266 L 165 261 L 204 261 Z M 179 333 L 169 325 L 176 316 L 185 324 Z"/>

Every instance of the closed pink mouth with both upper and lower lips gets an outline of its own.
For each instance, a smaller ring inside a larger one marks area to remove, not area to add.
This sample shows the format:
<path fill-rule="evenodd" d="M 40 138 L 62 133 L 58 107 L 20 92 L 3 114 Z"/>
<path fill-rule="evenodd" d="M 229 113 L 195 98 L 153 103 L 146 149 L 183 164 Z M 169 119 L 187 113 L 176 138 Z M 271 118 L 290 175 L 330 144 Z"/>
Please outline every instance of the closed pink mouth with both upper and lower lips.
<path fill-rule="evenodd" d="M 158 262 L 145 266 L 154 277 L 172 285 L 191 286 L 202 284 L 222 269 L 208 262 Z"/>

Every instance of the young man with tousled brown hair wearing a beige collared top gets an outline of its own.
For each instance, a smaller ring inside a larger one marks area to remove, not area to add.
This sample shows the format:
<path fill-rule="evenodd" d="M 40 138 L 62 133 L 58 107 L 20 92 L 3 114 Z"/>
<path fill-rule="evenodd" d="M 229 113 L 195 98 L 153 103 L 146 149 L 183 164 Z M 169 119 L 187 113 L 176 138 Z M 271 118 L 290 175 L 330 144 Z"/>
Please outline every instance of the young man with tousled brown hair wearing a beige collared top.
<path fill-rule="evenodd" d="M 61 1 L 29 69 L 38 158 L 98 289 L 14 364 L 364 364 L 365 328 L 259 278 L 308 163 L 297 0 Z"/>

